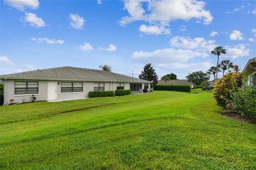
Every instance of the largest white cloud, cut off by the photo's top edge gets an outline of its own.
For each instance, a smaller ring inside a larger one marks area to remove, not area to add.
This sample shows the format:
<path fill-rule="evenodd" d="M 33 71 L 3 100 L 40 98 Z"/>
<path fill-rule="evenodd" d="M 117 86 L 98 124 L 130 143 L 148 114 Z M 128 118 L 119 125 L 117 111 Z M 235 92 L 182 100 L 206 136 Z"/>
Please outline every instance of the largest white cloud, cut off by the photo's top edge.
<path fill-rule="evenodd" d="M 128 11 L 129 16 L 122 17 L 119 24 L 125 26 L 134 21 L 146 21 L 151 25 L 150 27 L 161 25 L 162 28 L 165 28 L 173 20 L 188 21 L 192 18 L 203 20 L 204 24 L 210 24 L 213 17 L 210 11 L 205 10 L 204 6 L 204 2 L 196 0 L 126 0 L 124 8 Z"/>

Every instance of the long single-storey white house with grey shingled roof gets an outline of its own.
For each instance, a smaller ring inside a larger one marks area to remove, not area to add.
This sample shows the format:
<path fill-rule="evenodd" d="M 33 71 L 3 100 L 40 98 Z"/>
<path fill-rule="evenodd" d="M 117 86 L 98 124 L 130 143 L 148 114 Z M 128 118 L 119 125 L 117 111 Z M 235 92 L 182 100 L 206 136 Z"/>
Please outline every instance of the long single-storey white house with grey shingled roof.
<path fill-rule="evenodd" d="M 4 103 L 39 100 L 65 100 L 88 97 L 89 91 L 131 89 L 132 94 L 150 89 L 150 81 L 126 75 L 78 67 L 57 67 L 0 75 L 4 81 Z"/>

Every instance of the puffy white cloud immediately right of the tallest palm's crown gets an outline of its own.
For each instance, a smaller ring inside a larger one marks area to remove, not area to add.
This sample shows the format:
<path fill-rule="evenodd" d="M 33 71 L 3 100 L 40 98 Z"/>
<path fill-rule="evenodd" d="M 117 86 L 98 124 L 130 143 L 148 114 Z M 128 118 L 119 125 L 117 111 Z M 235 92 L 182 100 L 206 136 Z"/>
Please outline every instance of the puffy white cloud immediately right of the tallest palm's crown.
<path fill-rule="evenodd" d="M 233 59 L 238 57 L 249 56 L 251 51 L 250 49 L 246 49 L 245 45 L 243 44 L 238 44 L 234 47 L 226 46 L 225 49 L 227 53 L 223 56 Z"/>

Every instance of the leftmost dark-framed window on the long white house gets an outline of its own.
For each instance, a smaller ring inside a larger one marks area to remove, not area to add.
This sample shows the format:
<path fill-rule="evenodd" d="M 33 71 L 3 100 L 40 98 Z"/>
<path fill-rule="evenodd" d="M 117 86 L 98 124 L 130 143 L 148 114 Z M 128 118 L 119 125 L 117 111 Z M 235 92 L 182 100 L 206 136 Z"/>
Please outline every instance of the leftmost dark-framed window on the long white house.
<path fill-rule="evenodd" d="M 15 95 L 38 94 L 38 82 L 15 81 Z"/>

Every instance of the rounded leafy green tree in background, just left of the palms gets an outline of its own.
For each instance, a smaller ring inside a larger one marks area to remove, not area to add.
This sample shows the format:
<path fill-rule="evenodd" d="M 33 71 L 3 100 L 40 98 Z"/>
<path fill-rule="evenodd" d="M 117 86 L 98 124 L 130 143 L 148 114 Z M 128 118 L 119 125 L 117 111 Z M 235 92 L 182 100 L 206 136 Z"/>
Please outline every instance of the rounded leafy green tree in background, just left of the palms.
<path fill-rule="evenodd" d="M 186 78 L 188 79 L 188 82 L 192 82 L 199 86 L 203 81 L 209 80 L 210 76 L 202 71 L 196 71 L 191 74 L 189 73 Z"/>

